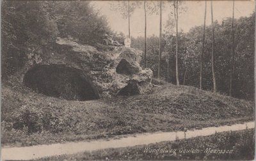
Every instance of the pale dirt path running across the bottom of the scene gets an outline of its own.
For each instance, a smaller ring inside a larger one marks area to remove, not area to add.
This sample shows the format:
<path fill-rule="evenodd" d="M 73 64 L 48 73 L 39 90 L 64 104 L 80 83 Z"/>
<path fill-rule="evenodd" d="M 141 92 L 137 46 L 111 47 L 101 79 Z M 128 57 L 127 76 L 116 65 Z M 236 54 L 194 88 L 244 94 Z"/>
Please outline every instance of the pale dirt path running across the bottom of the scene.
<path fill-rule="evenodd" d="M 188 130 L 186 132 L 186 138 L 209 136 L 215 134 L 215 132 L 253 129 L 254 127 L 255 122 L 247 122 L 243 124 L 234 124 L 231 126 L 207 127 L 201 130 Z M 83 151 L 101 150 L 106 148 L 124 148 L 127 146 L 159 143 L 161 141 L 175 141 L 178 138 L 185 138 L 183 131 L 136 134 L 135 137 L 128 136 L 121 139 L 111 139 L 109 141 L 99 139 L 91 142 L 58 143 L 19 148 L 2 148 L 1 157 L 2 160 L 31 160 L 54 155 L 74 154 Z"/>

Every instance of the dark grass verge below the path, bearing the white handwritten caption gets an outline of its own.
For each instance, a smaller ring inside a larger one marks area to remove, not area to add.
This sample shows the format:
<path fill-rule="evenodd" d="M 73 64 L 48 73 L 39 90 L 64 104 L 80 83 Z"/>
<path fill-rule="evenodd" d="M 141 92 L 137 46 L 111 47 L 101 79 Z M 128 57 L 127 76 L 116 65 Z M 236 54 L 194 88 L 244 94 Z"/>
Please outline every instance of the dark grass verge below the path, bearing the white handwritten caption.
<path fill-rule="evenodd" d="M 212 136 L 200 136 L 172 142 L 148 144 L 128 148 L 109 148 L 74 155 L 60 155 L 42 158 L 41 160 L 253 160 L 255 151 L 254 130 L 246 129 L 237 132 L 221 132 Z M 168 150 L 168 153 L 146 152 L 152 150 Z M 184 150 L 199 150 L 198 153 Z M 233 150 L 230 153 L 208 153 L 213 150 Z M 206 151 L 205 151 L 206 150 Z M 171 151 L 171 152 L 170 152 Z"/>

